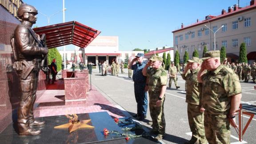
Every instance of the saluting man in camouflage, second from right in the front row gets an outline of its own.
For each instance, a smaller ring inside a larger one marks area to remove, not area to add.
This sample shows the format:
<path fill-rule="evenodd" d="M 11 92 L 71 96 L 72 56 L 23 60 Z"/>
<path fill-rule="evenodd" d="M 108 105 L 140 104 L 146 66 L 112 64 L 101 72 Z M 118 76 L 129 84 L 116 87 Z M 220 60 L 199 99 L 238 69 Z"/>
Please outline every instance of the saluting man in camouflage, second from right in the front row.
<path fill-rule="evenodd" d="M 188 64 L 181 74 L 186 80 L 186 103 L 188 103 L 188 123 L 192 138 L 187 144 L 207 144 L 204 134 L 204 108 L 201 108 L 202 83 L 197 80 L 201 61 L 198 57 L 188 60 Z M 188 72 L 190 70 L 190 72 Z"/>

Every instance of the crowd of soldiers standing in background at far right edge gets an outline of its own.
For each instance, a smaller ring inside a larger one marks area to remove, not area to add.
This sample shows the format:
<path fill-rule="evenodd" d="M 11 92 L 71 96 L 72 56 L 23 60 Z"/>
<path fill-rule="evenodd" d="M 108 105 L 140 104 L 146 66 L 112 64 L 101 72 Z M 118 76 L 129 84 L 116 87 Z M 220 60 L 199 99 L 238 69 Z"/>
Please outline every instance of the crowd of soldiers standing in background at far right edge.
<path fill-rule="evenodd" d="M 256 83 L 256 62 L 253 62 L 252 65 L 244 62 L 229 64 L 227 60 L 228 59 L 225 58 L 222 64 L 236 72 L 239 80 L 244 80 L 244 82 L 248 82 L 252 76 L 253 83 Z"/>

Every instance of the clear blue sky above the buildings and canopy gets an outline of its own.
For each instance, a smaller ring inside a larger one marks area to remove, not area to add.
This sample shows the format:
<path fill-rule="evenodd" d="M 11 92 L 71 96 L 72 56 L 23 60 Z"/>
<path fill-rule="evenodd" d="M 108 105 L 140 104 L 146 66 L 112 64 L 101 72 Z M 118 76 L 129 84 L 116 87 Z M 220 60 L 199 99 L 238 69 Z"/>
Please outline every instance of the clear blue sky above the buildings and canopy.
<path fill-rule="evenodd" d="M 62 9 L 62 0 L 23 0 L 47 16 Z M 240 6 L 250 0 L 240 0 Z M 152 49 L 173 46 L 172 31 L 219 15 L 238 0 L 65 0 L 65 21 L 78 21 L 101 31 L 100 36 L 119 36 L 119 49 Z M 37 15 L 36 26 L 47 25 L 47 18 Z M 50 18 L 50 24 L 62 23 L 62 12 Z M 68 45 L 67 48 L 72 48 Z"/>

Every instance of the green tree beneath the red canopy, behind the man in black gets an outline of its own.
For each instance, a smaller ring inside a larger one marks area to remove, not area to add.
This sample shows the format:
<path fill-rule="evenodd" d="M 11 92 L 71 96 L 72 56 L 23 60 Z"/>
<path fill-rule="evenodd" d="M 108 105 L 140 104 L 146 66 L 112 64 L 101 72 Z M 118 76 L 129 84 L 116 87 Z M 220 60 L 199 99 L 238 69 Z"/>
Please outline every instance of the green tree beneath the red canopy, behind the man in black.
<path fill-rule="evenodd" d="M 48 65 L 52 63 L 52 60 L 56 59 L 57 71 L 61 70 L 62 58 L 57 48 L 51 48 L 48 51 Z"/>

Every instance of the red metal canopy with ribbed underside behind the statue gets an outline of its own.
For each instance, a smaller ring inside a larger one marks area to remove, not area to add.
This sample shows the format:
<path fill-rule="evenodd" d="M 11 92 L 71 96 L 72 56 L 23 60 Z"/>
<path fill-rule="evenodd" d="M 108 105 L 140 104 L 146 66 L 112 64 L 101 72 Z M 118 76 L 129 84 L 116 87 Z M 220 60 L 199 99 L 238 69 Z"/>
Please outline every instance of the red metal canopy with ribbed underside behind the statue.
<path fill-rule="evenodd" d="M 80 24 L 77 21 L 33 28 L 33 30 L 40 36 L 42 34 L 46 35 L 48 48 L 56 48 L 68 44 L 85 48 L 100 34 L 100 31 Z"/>

